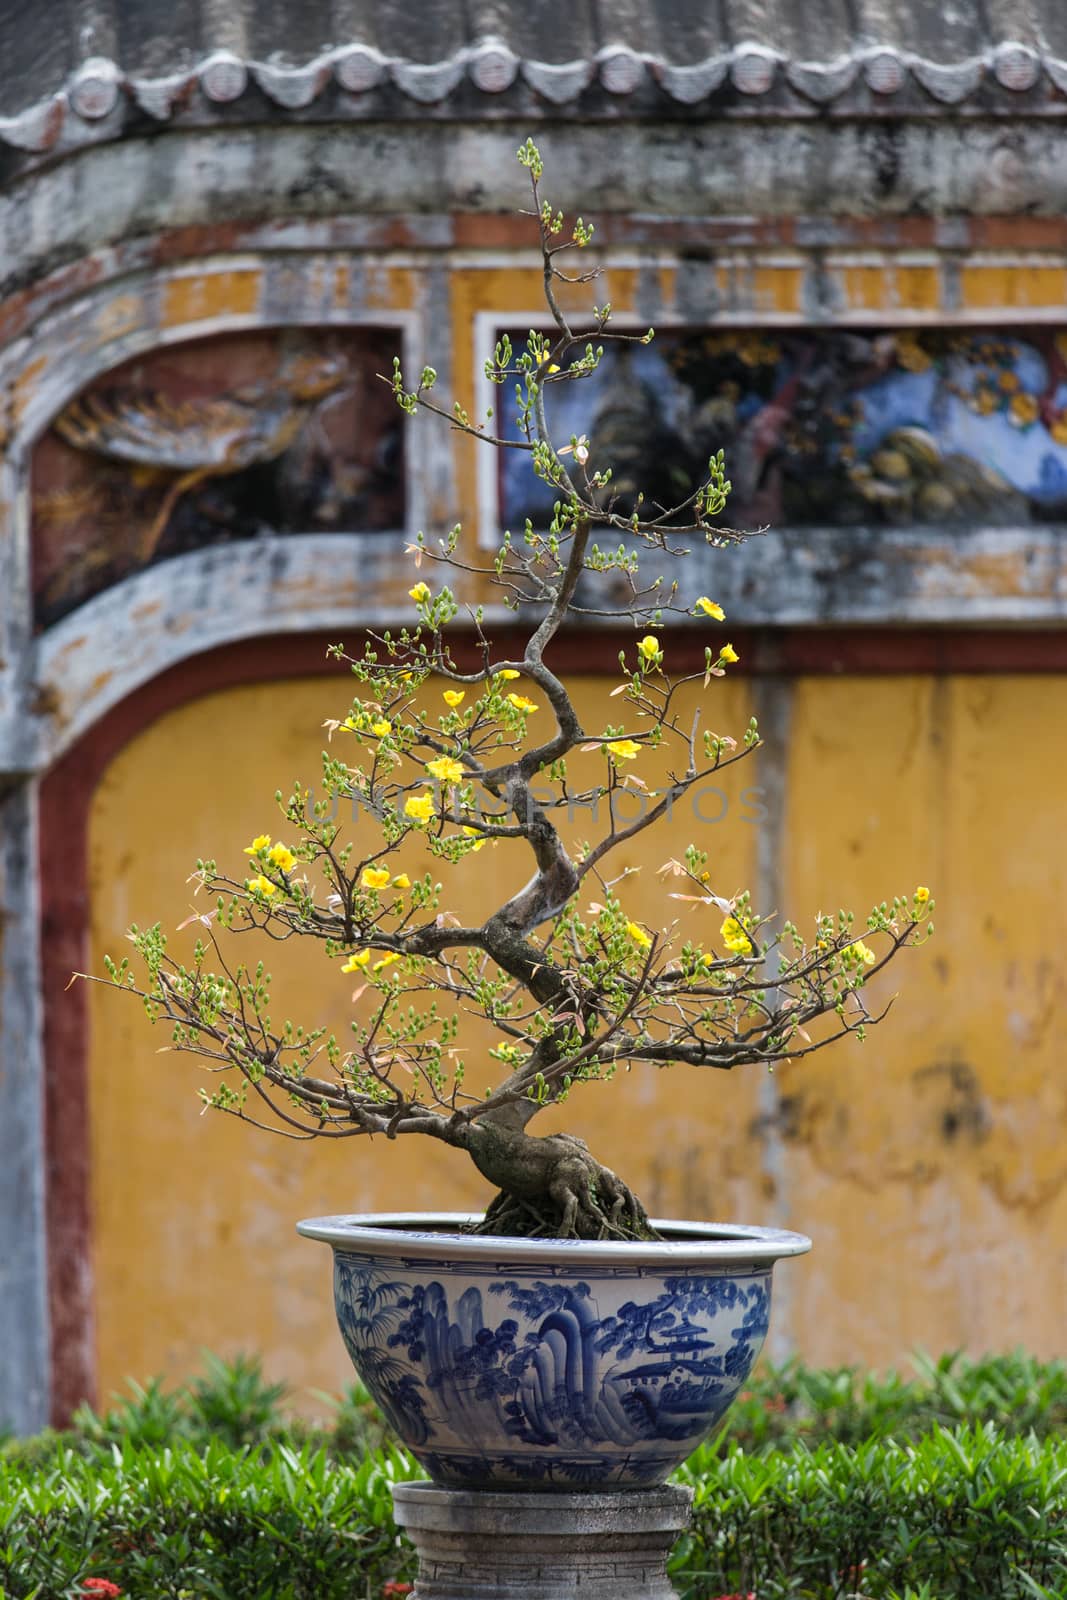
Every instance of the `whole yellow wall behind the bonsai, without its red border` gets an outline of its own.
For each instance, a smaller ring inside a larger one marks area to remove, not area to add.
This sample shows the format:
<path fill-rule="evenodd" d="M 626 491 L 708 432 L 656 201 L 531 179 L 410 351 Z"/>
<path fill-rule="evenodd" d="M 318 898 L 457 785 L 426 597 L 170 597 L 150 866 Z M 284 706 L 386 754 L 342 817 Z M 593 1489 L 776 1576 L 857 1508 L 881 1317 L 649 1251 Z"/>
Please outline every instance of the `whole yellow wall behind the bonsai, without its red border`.
<path fill-rule="evenodd" d="M 587 725 L 603 722 L 608 686 L 579 685 Z M 717 726 L 741 731 L 752 685 L 715 693 Z M 198 854 L 240 861 L 253 834 L 277 832 L 274 790 L 314 781 L 320 723 L 346 706 L 347 682 L 336 677 L 232 690 L 162 718 L 122 752 L 93 811 L 96 970 L 131 918 L 181 922 Z M 814 1235 L 816 1253 L 779 1275 L 779 1334 L 808 1360 L 889 1365 L 915 1346 L 1062 1347 L 1065 717 L 1067 683 L 1054 677 L 798 682 L 784 752 L 782 909 L 862 914 L 926 882 L 939 902 L 934 942 L 875 986 L 873 1000 L 897 989 L 901 1000 L 862 1046 L 795 1062 L 769 1083 L 755 1069 L 645 1070 L 568 1107 L 568 1125 L 661 1214 Z M 235 774 L 229 789 L 221 752 Z M 771 760 L 760 752 L 721 781 L 733 811 L 701 835 L 726 893 L 753 878 L 760 830 L 739 821 L 737 794 Z M 688 832 L 646 835 L 619 862 L 643 864 L 625 896 L 635 915 L 661 923 L 675 914 L 654 867 Z M 482 906 L 488 872 L 510 883 L 525 869 L 504 846 L 486 850 L 448 904 Z M 272 957 L 280 971 L 277 949 Z M 342 1021 L 349 979 L 318 947 L 288 946 L 285 957 L 301 1019 Z M 326 1251 L 298 1240 L 293 1222 L 477 1208 L 482 1179 L 430 1141 L 301 1149 L 202 1117 L 197 1062 L 157 1054 L 165 1038 L 136 1003 L 98 989 L 91 1022 L 102 1392 L 128 1373 L 178 1376 L 205 1346 L 254 1347 L 272 1373 L 336 1389 L 347 1368 Z M 768 1091 L 779 1096 L 769 1139 L 758 1125 L 773 1109 Z"/>

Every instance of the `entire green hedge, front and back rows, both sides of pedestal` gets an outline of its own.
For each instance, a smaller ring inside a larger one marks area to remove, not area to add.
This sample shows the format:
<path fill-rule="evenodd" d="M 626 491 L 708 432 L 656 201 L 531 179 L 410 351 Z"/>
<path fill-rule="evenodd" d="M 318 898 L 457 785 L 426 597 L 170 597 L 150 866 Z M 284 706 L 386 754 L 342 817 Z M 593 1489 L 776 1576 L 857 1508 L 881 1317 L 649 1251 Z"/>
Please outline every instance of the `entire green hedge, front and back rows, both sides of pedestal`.
<path fill-rule="evenodd" d="M 0 1600 L 360 1600 L 410 1582 L 389 1488 L 416 1477 L 357 1389 L 283 1414 L 256 1362 L 213 1362 L 66 1435 L 0 1450 Z M 768 1371 L 680 1474 L 685 1600 L 1064 1600 L 1067 1381 L 1025 1357 L 915 1379 Z M 953 1426 L 945 1426 L 952 1419 Z"/>

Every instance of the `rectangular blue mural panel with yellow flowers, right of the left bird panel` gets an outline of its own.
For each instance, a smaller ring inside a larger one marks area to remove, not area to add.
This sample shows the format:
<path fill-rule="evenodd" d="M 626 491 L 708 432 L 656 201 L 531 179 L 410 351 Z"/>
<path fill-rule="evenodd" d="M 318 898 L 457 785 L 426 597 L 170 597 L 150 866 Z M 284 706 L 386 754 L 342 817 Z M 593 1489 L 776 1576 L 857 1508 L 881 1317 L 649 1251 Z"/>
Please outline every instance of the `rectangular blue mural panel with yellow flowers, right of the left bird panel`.
<path fill-rule="evenodd" d="M 509 330 L 518 350 L 525 334 Z M 672 507 L 721 448 L 734 526 L 1067 520 L 1067 331 L 665 330 L 545 379 L 557 440 L 587 434 L 619 509 Z M 514 406 L 502 414 L 518 437 Z M 553 494 L 501 451 L 501 522 Z"/>

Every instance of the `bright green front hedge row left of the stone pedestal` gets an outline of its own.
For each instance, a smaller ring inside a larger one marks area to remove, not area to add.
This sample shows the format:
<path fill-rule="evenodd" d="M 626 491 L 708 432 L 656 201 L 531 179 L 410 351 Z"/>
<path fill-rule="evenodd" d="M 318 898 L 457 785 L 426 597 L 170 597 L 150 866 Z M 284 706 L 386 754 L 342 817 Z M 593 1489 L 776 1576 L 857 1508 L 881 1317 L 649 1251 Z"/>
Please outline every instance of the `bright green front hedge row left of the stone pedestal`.
<path fill-rule="evenodd" d="M 67 1600 L 104 1578 L 134 1600 L 360 1600 L 411 1578 L 389 1488 L 421 1477 L 400 1451 L 64 1446 L 0 1464 L 0 1595 Z"/>

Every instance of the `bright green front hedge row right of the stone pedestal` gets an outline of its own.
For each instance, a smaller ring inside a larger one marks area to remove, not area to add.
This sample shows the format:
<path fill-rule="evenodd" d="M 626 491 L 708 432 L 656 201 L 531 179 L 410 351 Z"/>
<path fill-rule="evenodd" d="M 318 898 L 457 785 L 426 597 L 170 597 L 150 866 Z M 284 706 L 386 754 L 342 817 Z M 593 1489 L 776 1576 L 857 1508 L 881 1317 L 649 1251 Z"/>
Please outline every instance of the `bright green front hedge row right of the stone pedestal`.
<path fill-rule="evenodd" d="M 1033 1600 L 1067 1595 L 1067 1440 L 992 1422 L 915 1442 L 697 1451 L 681 1595 Z M 925 1586 L 925 1587 L 923 1587 Z"/>

